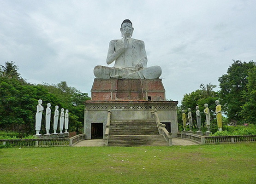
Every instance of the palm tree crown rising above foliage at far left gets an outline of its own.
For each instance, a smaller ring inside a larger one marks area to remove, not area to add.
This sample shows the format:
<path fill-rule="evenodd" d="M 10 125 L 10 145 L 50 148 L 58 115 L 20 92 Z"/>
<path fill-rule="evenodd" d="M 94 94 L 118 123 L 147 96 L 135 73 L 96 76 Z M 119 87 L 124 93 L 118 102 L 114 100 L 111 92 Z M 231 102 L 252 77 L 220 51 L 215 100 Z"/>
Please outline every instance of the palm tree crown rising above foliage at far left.
<path fill-rule="evenodd" d="M 5 66 L 1 64 L 0 66 L 0 76 L 7 78 L 19 78 L 20 74 L 18 73 L 18 66 L 15 65 L 13 61 L 6 61 Z"/>

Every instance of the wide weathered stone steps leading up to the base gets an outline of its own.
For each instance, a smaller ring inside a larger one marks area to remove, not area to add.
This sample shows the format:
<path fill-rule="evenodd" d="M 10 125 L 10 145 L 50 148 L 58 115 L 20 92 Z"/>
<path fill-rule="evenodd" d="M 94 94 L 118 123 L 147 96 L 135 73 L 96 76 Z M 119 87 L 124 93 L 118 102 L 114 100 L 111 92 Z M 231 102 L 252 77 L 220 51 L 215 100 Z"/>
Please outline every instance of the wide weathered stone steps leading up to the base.
<path fill-rule="evenodd" d="M 168 146 L 155 120 L 112 120 L 108 146 Z"/>

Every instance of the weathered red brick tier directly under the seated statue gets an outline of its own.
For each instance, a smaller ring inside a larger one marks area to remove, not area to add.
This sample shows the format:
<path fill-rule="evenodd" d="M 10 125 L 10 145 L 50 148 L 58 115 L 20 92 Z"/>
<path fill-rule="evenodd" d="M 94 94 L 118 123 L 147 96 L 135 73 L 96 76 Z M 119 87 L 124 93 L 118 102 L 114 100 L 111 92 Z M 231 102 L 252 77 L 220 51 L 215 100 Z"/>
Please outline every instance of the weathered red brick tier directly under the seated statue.
<path fill-rule="evenodd" d="M 165 101 L 161 79 L 94 79 L 91 100 Z"/>

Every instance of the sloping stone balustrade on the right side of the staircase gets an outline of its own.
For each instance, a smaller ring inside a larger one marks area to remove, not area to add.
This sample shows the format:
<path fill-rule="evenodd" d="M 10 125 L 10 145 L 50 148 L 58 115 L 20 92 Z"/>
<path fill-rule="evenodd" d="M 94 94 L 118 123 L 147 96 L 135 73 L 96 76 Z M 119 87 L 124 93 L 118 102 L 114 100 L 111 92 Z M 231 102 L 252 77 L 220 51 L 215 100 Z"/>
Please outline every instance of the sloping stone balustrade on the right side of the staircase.
<path fill-rule="evenodd" d="M 155 119 L 159 134 L 163 135 L 169 146 L 172 146 L 172 133 L 168 132 L 168 130 L 165 128 L 166 125 L 160 122 L 156 109 L 151 111 L 151 113 Z"/>

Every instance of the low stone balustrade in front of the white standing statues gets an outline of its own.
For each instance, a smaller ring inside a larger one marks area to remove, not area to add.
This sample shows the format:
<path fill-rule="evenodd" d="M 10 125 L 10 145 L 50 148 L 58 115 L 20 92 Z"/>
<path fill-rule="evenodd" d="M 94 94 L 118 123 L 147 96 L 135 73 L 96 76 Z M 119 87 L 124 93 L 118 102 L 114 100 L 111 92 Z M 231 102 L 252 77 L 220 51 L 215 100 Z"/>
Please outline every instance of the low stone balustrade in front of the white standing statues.
<path fill-rule="evenodd" d="M 6 147 L 69 146 L 69 138 L 0 139 L 0 143 Z"/>

